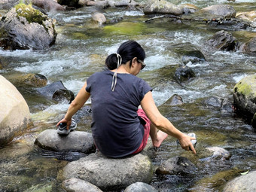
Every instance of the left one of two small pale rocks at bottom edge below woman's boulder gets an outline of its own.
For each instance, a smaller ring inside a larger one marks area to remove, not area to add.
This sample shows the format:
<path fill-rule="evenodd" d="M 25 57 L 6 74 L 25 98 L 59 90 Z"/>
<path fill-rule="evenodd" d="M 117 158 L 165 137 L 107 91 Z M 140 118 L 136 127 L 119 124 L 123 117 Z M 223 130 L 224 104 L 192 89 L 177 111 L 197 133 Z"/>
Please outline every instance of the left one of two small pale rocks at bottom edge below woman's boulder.
<path fill-rule="evenodd" d="M 88 191 L 88 192 L 101 192 L 99 187 L 90 184 L 80 178 L 70 178 L 68 180 L 62 181 L 62 188 L 67 192 L 73 191 Z"/>

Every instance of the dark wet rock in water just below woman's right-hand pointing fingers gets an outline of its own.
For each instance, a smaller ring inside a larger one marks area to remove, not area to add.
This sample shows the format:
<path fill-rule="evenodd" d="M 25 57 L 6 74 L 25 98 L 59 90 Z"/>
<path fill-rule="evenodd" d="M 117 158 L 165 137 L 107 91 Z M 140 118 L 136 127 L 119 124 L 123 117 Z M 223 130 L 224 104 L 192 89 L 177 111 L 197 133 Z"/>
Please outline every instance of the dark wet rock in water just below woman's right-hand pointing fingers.
<path fill-rule="evenodd" d="M 191 163 L 186 157 L 172 157 L 164 161 L 157 168 L 159 175 L 177 175 L 177 174 L 193 174 L 197 170 L 194 163 Z"/>

